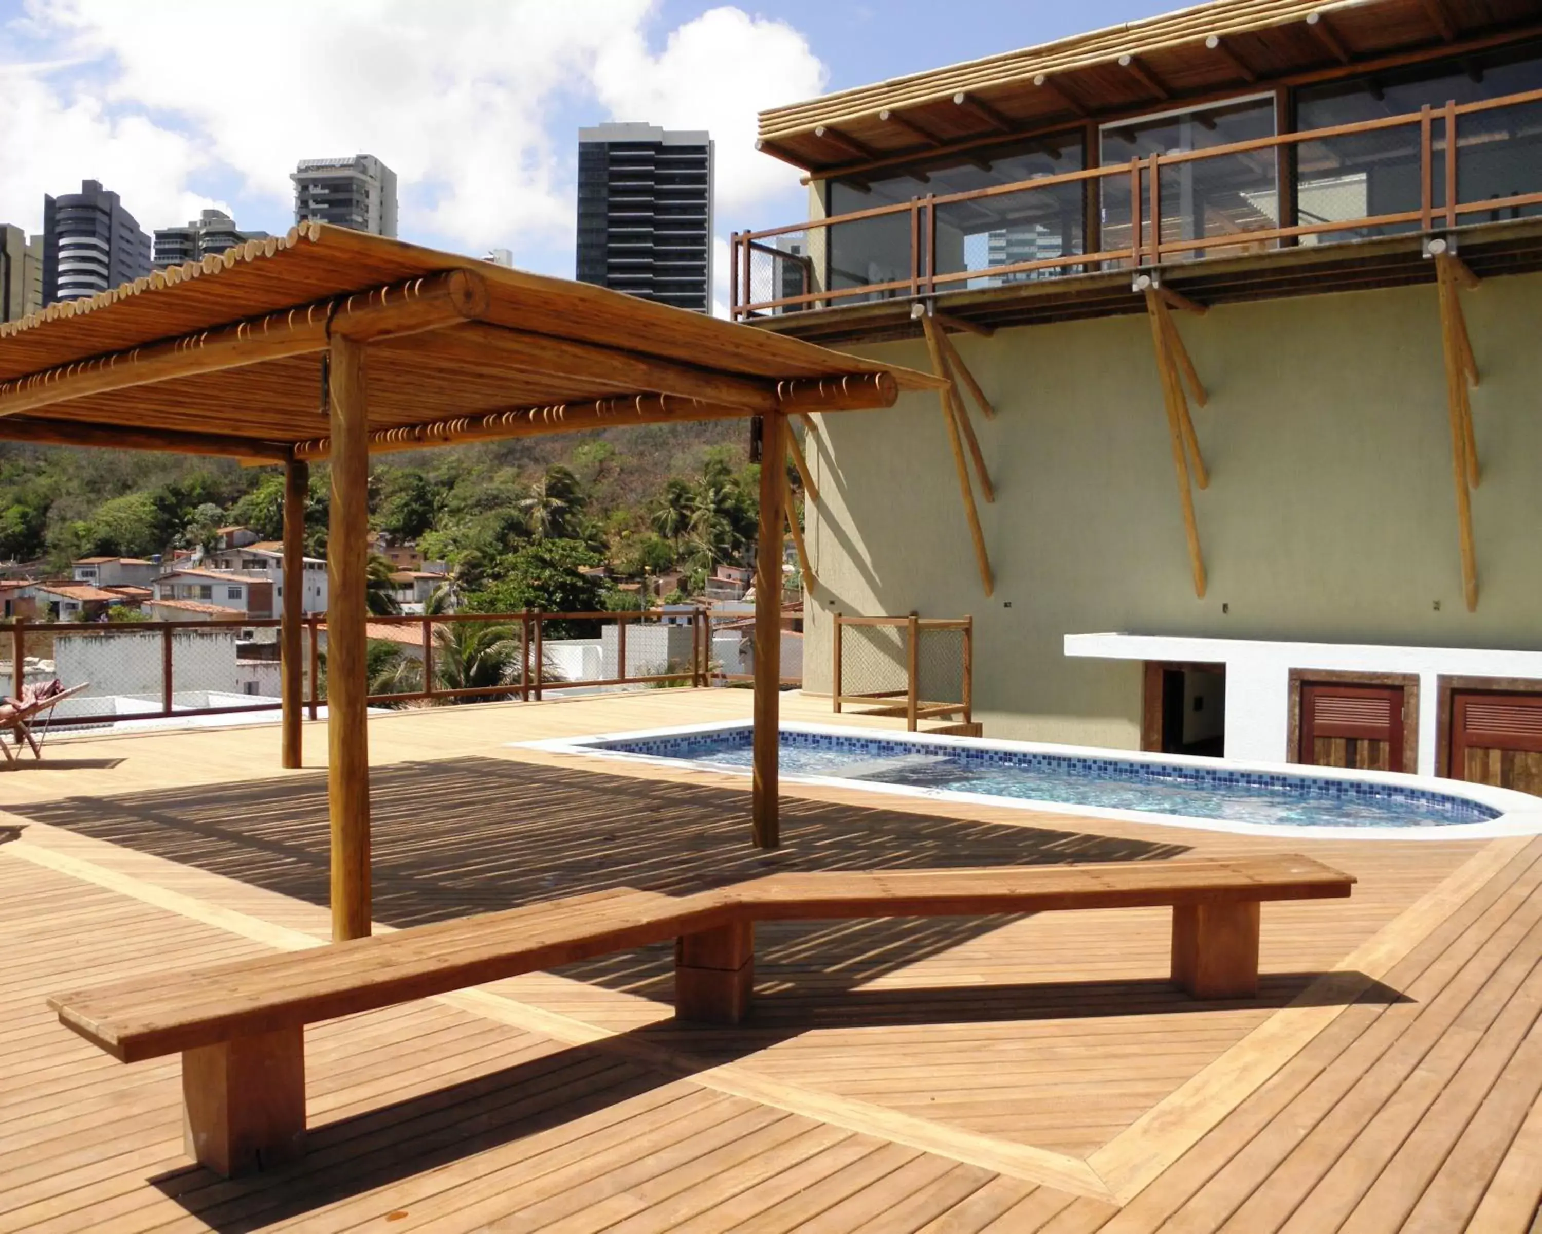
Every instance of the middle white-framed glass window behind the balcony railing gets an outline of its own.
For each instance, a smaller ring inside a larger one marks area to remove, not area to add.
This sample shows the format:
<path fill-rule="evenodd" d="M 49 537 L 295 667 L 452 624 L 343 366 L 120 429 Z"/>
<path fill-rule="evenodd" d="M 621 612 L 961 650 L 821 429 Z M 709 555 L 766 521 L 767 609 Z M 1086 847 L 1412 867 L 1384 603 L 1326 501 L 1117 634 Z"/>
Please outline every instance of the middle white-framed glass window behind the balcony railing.
<path fill-rule="evenodd" d="M 1186 154 L 1235 142 L 1272 137 L 1274 96 L 1255 96 L 1209 108 L 1173 111 L 1138 120 L 1104 125 L 1103 165 L 1129 163 L 1152 154 Z M 1272 149 L 1218 154 L 1161 168 L 1158 206 L 1163 243 L 1186 245 L 1163 254 L 1163 260 L 1189 260 L 1217 253 L 1272 248 L 1274 242 L 1249 240 L 1251 231 L 1280 226 L 1280 183 Z M 1132 248 L 1129 177 L 1103 182 L 1103 248 Z M 1141 176 L 1141 243 L 1149 245 L 1150 173 Z M 1198 245 L 1197 240 L 1217 243 Z M 1149 260 L 1149 259 L 1147 259 Z"/>

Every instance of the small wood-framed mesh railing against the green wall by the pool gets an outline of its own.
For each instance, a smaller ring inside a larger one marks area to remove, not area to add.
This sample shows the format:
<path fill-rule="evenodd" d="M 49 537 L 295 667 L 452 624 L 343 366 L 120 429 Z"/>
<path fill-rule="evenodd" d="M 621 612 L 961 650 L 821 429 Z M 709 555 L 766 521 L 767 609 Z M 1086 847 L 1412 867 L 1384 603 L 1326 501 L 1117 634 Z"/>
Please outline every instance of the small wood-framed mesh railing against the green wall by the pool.
<path fill-rule="evenodd" d="M 840 616 L 834 624 L 836 712 L 975 723 L 975 619 Z"/>

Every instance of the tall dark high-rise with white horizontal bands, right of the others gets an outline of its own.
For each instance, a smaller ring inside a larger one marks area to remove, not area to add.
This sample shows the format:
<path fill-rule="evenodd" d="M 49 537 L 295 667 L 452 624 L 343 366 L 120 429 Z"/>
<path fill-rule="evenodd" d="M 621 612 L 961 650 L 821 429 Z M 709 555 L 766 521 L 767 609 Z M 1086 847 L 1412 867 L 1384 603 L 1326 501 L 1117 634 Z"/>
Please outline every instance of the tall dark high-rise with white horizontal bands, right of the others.
<path fill-rule="evenodd" d="M 578 280 L 712 311 L 712 139 L 578 129 Z"/>

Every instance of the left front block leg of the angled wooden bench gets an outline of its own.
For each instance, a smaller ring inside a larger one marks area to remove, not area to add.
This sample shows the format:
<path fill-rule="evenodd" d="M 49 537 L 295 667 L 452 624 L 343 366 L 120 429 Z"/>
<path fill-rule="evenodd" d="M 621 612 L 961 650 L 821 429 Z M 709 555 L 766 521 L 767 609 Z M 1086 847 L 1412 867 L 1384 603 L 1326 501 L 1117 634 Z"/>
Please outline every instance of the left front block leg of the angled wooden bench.
<path fill-rule="evenodd" d="M 227 1179 L 304 1155 L 304 1029 L 183 1051 L 182 1106 L 188 1155 Z"/>

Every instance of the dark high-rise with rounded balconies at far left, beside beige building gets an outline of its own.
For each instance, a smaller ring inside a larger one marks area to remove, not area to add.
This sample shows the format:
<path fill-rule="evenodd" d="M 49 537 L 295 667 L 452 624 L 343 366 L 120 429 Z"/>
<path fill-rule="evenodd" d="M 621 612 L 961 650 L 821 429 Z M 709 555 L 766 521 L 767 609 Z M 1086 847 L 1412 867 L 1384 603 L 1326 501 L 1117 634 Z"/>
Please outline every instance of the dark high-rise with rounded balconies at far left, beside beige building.
<path fill-rule="evenodd" d="M 79 300 L 150 273 L 150 237 L 116 193 L 82 180 L 43 197 L 43 303 Z"/>

